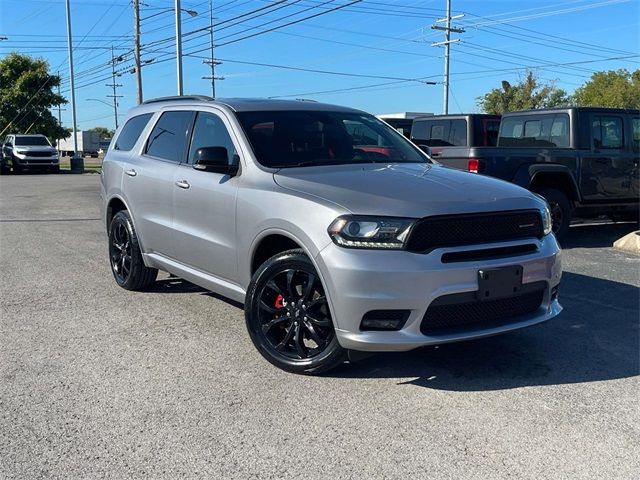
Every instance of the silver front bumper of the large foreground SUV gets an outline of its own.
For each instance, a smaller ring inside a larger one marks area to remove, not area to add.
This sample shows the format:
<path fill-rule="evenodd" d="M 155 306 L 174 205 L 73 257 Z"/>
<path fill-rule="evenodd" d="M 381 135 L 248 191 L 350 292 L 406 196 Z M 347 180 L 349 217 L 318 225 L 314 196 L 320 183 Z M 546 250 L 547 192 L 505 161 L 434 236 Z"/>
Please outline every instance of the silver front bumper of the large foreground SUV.
<path fill-rule="evenodd" d="M 561 251 L 553 235 L 542 240 L 486 244 L 482 248 L 536 244 L 535 252 L 491 260 L 443 263 L 442 255 L 477 250 L 465 246 L 440 248 L 429 254 L 406 251 L 356 250 L 330 244 L 316 256 L 316 264 L 329 294 L 336 335 L 344 348 L 363 351 L 406 351 L 424 345 L 480 338 L 549 320 L 562 311 L 552 289 L 562 275 Z M 464 329 L 425 335 L 420 326 L 429 305 L 438 297 L 478 290 L 478 270 L 522 266 L 522 284 L 541 282 L 544 294 L 535 312 L 507 321 L 482 322 Z M 410 310 L 401 330 L 361 331 L 371 310 Z"/>

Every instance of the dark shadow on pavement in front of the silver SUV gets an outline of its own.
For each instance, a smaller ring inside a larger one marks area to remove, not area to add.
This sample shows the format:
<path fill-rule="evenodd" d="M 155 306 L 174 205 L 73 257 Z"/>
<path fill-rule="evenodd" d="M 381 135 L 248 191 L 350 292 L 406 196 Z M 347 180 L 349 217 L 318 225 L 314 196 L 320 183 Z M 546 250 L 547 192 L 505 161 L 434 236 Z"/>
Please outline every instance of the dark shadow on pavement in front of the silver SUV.
<path fill-rule="evenodd" d="M 633 285 L 565 272 L 560 289 L 564 311 L 547 323 L 471 342 L 377 354 L 327 375 L 408 377 L 399 385 L 447 391 L 632 377 L 640 373 L 639 296 Z"/>

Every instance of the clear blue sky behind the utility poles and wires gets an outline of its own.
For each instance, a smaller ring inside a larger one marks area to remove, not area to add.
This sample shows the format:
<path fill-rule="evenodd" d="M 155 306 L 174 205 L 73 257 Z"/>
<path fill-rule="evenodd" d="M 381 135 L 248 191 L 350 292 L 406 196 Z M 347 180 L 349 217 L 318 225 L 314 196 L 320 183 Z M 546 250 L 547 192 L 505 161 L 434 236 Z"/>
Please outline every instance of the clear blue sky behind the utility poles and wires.
<path fill-rule="evenodd" d="M 176 94 L 173 0 L 145 0 L 141 7 L 144 97 Z M 431 29 L 445 0 L 213 0 L 216 57 L 223 59 L 218 97 L 287 96 L 361 108 L 372 113 L 442 111 L 443 32 Z M 234 17 L 273 5 L 271 8 Z M 185 93 L 210 94 L 206 30 L 208 0 L 183 0 Z M 132 67 L 133 10 L 128 0 L 71 0 L 78 127 L 113 127 L 110 102 L 111 46 L 124 56 L 117 69 L 123 116 L 136 103 Z M 320 12 L 295 25 L 251 34 Z M 476 98 L 517 81 L 527 67 L 571 92 L 594 71 L 640 65 L 638 0 L 453 0 L 454 22 L 465 33 L 452 46 L 450 112 L 477 111 Z M 11 51 L 45 58 L 63 77 L 69 98 L 63 0 L 2 0 L 0 56 Z M 164 40 L 164 42 L 163 42 Z M 159 42 L 159 43 L 155 43 Z M 635 56 L 634 56 L 635 55 Z M 237 63 L 249 62 L 249 63 Z M 289 68 L 334 72 L 325 74 Z M 337 75 L 341 74 L 341 75 Z M 359 76 L 353 76 L 353 75 Z M 417 80 L 428 79 L 438 85 Z M 71 124 L 69 106 L 62 113 Z"/>

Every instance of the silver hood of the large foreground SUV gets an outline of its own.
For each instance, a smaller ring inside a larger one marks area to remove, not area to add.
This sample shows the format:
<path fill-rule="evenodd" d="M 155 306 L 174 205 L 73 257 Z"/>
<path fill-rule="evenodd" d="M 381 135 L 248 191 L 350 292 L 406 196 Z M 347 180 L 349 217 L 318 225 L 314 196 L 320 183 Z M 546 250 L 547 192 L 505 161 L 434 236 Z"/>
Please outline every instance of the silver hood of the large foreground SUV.
<path fill-rule="evenodd" d="M 511 183 L 432 164 L 287 168 L 278 170 L 274 180 L 359 215 L 420 218 L 543 206 L 534 194 Z"/>

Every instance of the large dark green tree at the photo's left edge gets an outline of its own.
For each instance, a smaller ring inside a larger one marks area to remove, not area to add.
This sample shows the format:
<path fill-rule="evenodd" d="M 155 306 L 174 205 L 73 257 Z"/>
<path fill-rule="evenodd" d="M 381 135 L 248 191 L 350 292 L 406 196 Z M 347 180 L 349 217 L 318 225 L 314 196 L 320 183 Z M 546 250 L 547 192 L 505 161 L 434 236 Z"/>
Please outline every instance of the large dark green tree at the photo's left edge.
<path fill-rule="evenodd" d="M 0 59 L 0 138 L 8 133 L 41 133 L 51 140 L 64 138 L 62 128 L 49 111 L 67 103 L 54 93 L 58 75 L 49 74 L 49 64 L 39 58 L 10 53 Z"/>

